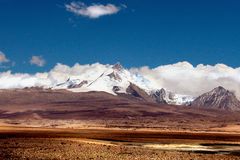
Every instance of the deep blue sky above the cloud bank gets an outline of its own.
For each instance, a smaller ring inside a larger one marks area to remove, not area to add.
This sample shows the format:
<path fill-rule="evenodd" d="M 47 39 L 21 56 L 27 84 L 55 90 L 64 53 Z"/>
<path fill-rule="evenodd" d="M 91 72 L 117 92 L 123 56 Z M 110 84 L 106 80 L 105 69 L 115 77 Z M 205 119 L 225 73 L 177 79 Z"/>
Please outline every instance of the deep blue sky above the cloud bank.
<path fill-rule="evenodd" d="M 70 2 L 0 0 L 0 51 L 16 62 L 12 71 L 48 71 L 58 62 L 240 66 L 238 0 L 82 0 L 128 6 L 98 19 L 67 12 Z M 32 55 L 46 66 L 28 64 Z"/>

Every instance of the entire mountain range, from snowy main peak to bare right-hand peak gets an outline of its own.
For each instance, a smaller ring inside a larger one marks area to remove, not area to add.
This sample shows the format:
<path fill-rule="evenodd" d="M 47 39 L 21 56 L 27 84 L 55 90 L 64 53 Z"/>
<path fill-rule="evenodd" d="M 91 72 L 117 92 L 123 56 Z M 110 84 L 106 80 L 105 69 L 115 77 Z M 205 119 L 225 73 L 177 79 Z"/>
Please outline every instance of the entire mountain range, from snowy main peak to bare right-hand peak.
<path fill-rule="evenodd" d="M 240 102 L 233 92 L 219 86 L 198 97 L 176 94 L 165 88 L 156 88 L 142 75 L 130 73 L 120 63 L 110 66 L 96 79 L 71 79 L 51 89 L 66 89 L 72 92 L 101 91 L 115 96 L 130 97 L 146 102 L 169 105 L 193 106 L 220 110 L 238 111 Z"/>

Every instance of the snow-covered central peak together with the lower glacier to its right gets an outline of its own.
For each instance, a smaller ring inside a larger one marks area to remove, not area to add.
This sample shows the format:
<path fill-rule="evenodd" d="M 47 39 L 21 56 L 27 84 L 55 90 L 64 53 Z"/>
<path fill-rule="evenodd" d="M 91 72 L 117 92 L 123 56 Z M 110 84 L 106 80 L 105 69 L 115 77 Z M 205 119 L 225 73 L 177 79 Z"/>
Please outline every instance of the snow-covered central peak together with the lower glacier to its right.
<path fill-rule="evenodd" d="M 105 71 L 94 73 L 93 76 L 89 76 L 89 79 L 69 78 L 66 82 L 53 87 L 53 89 L 68 89 L 72 92 L 103 91 L 117 95 L 119 93 L 130 94 L 127 90 L 131 84 L 142 89 L 149 95 L 149 98 L 158 103 L 190 105 L 193 101 L 191 96 L 174 94 L 165 89 L 154 88 L 154 85 L 149 80 L 140 74 L 130 73 L 119 63 L 106 66 Z M 146 96 L 145 99 L 147 99 Z"/>

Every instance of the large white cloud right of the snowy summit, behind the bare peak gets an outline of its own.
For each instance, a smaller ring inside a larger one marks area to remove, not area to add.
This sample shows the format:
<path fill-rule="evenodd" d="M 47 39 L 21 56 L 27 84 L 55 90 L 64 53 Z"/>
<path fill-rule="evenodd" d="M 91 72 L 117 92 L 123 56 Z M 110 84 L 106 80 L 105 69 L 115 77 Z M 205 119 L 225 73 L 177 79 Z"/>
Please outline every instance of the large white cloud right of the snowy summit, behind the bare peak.
<path fill-rule="evenodd" d="M 188 62 L 163 65 L 150 69 L 141 67 L 131 69 L 149 79 L 156 88 L 198 96 L 217 86 L 234 91 L 240 97 L 240 68 L 224 64 L 203 65 L 196 67 Z"/>

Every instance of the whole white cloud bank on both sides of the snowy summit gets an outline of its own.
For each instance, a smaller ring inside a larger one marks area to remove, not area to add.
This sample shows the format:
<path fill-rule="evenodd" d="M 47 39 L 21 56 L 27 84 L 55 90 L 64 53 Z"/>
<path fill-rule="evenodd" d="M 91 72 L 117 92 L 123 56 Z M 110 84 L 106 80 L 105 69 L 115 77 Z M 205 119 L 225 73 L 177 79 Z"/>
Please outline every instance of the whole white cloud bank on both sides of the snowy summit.
<path fill-rule="evenodd" d="M 72 67 L 57 64 L 49 72 L 33 75 L 7 71 L 0 73 L 0 88 L 51 87 L 65 82 L 68 78 L 94 80 L 110 67 L 112 65 L 109 64 L 77 63 Z M 199 64 L 194 67 L 188 62 L 179 62 L 156 68 L 144 66 L 128 70 L 145 77 L 155 89 L 166 88 L 176 93 L 198 96 L 217 86 L 223 86 L 240 97 L 240 68 L 232 68 L 224 64 L 214 66 Z"/>

